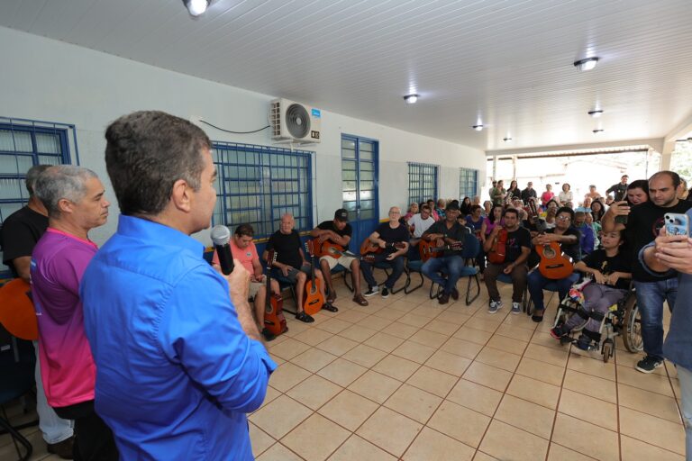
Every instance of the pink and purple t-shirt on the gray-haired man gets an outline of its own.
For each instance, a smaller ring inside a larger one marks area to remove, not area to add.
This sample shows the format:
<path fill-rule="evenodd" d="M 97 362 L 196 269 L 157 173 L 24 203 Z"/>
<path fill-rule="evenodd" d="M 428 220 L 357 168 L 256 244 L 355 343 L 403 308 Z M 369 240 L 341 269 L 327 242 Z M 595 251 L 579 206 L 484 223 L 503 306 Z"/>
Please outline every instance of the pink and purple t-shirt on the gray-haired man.
<path fill-rule="evenodd" d="M 94 400 L 96 365 L 84 331 L 79 282 L 97 249 L 90 240 L 52 228 L 33 249 L 39 361 L 43 389 L 52 407 Z"/>

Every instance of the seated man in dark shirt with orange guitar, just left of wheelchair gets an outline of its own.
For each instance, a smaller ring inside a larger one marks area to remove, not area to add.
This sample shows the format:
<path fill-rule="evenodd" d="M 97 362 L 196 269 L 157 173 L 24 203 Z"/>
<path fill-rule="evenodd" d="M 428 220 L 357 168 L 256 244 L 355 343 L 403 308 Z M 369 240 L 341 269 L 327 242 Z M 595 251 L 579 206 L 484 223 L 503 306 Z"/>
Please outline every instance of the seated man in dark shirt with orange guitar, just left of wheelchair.
<path fill-rule="evenodd" d="M 546 230 L 544 234 L 537 235 L 533 238 L 532 244 L 534 246 L 538 245 L 550 245 L 551 242 L 557 242 L 560 244 L 560 249 L 569 258 L 572 258 L 573 262 L 577 262 L 581 259 L 581 253 L 579 250 L 579 231 L 571 226 L 572 220 L 574 220 L 574 212 L 567 208 L 562 207 L 558 210 L 557 216 L 555 217 L 555 227 L 553 229 Z M 533 316 L 531 317 L 533 321 L 543 320 L 543 311 L 545 306 L 543 305 L 543 288 L 545 285 L 553 282 L 558 285 L 558 294 L 560 299 L 567 296 L 569 292 L 569 287 L 578 280 L 578 274 L 570 274 L 565 278 L 559 280 L 554 280 L 543 276 L 541 271 L 536 269 L 528 277 L 529 294 L 531 294 L 531 299 L 533 301 Z"/>

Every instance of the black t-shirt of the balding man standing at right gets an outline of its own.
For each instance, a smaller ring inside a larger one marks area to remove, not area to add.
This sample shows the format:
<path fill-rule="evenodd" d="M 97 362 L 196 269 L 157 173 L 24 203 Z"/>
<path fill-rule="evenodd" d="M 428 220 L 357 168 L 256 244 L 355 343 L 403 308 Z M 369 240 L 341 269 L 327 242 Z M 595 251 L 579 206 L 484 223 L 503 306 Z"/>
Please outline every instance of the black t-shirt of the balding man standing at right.
<path fill-rule="evenodd" d="M 644 202 L 632 207 L 632 211 L 627 217 L 624 235 L 627 248 L 630 250 L 630 258 L 632 258 L 632 277 L 634 280 L 637 282 L 656 282 L 678 276 L 677 273 L 664 277 L 651 276 L 639 262 L 639 251 L 659 236 L 659 230 L 663 227 L 664 214 L 667 212 L 684 213 L 690 207 L 692 207 L 692 203 L 684 200 L 670 208 L 663 208 L 652 202 Z"/>

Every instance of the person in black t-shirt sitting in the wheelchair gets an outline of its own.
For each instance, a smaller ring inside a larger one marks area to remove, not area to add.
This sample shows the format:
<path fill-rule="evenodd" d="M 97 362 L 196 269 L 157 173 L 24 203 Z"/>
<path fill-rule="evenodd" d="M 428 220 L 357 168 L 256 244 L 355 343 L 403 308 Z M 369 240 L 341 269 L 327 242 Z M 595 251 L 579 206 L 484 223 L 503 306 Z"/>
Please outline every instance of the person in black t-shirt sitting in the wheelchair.
<path fill-rule="evenodd" d="M 590 276 L 592 282 L 582 288 L 584 302 L 578 312 L 551 330 L 553 338 L 564 338 L 572 329 L 587 321 L 577 340 L 577 347 L 588 350 L 592 340 L 596 343 L 600 341 L 601 319 L 610 306 L 624 298 L 629 289 L 629 279 L 632 278 L 627 252 L 620 251 L 623 243 L 622 231 L 605 232 L 601 237 L 601 249 L 596 249 L 574 266 L 579 272 Z M 592 312 L 600 315 L 592 317 Z"/>

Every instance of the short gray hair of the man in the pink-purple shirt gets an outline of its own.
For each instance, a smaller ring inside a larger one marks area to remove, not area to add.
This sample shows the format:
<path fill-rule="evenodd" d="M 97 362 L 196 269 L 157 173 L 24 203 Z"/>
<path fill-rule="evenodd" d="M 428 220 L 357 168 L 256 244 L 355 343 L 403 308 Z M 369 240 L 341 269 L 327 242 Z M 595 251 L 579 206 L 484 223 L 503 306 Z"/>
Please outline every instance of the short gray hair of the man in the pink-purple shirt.
<path fill-rule="evenodd" d="M 59 216 L 59 201 L 78 203 L 87 194 L 87 180 L 96 176 L 88 168 L 73 165 L 49 167 L 36 179 L 34 191 L 50 217 Z"/>

